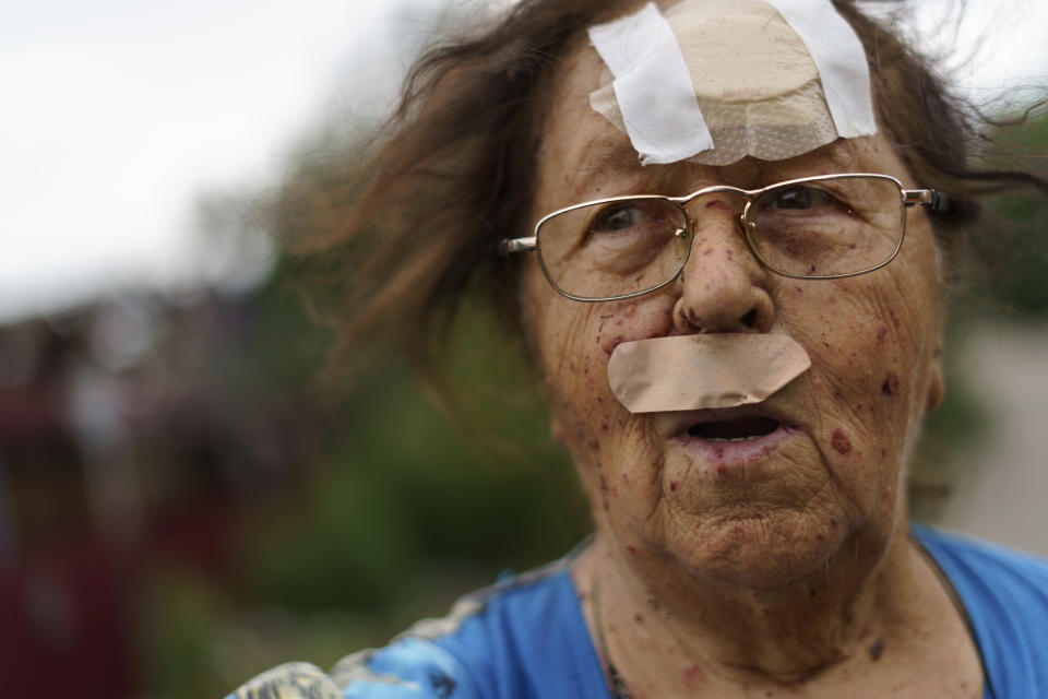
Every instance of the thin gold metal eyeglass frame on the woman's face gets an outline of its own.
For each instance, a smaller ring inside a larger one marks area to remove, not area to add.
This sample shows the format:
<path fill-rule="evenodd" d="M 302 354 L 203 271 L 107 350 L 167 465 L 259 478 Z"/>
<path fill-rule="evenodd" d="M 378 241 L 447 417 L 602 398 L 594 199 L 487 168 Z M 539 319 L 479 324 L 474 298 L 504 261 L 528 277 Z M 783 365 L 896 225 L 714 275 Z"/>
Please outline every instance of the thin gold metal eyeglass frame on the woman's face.
<path fill-rule="evenodd" d="M 793 272 L 784 272 L 783 270 L 776 269 L 774 265 L 767 262 L 767 260 L 765 260 L 760 252 L 758 252 L 757 245 L 753 242 L 751 238 L 750 227 L 747 226 L 750 205 L 753 203 L 754 200 L 757 200 L 759 197 L 761 197 L 761 194 L 772 189 L 788 187 L 790 185 L 801 185 L 806 182 L 818 182 L 818 181 L 827 180 L 827 179 L 845 179 L 845 178 L 867 178 L 867 179 L 872 178 L 872 179 L 890 181 L 894 183 L 895 187 L 898 189 L 900 196 L 902 197 L 902 202 L 901 202 L 902 203 L 902 206 L 901 206 L 902 221 L 900 222 L 898 242 L 895 245 L 895 249 L 888 257 L 888 259 L 872 266 L 866 268 L 864 270 L 859 270 L 857 272 L 847 272 L 844 274 L 796 274 Z M 509 257 L 514 252 L 526 252 L 529 250 L 535 250 L 538 253 L 538 264 L 543 270 L 543 274 L 546 275 L 546 281 L 548 281 L 550 286 L 552 286 L 560 295 L 575 301 L 592 304 L 592 303 L 598 303 L 598 301 L 614 301 L 614 300 L 621 300 L 626 298 L 634 298 L 636 296 L 643 296 L 645 294 L 651 294 L 652 292 L 657 292 L 658 289 L 667 286 L 668 284 L 671 284 L 680 275 L 681 271 L 683 271 L 684 266 L 688 264 L 688 260 L 691 258 L 692 246 L 690 245 L 690 240 L 689 240 L 689 245 L 686 248 L 684 256 L 681 259 L 677 270 L 674 271 L 674 273 L 670 274 L 666 280 L 656 284 L 655 286 L 652 286 L 651 288 L 645 288 L 640 292 L 630 292 L 629 294 L 617 294 L 615 296 L 602 296 L 602 297 L 585 297 L 585 296 L 575 296 L 573 294 L 569 294 L 568 292 L 560 288 L 560 286 L 558 286 L 558 284 L 550 276 L 549 270 L 546 268 L 546 263 L 543 261 L 543 251 L 538 245 L 538 233 L 539 233 L 539 229 L 543 227 L 543 224 L 545 224 L 550 218 L 553 218 L 555 216 L 559 216 L 561 214 L 575 211 L 579 209 L 583 209 L 586 206 L 609 204 L 609 203 L 615 203 L 620 201 L 657 200 L 657 201 L 669 202 L 674 206 L 680 210 L 680 213 L 683 216 L 684 221 L 688 222 L 688 228 L 678 230 L 677 235 L 678 236 L 687 235 L 690 238 L 692 235 L 694 235 L 695 222 L 691 218 L 691 216 L 688 215 L 688 211 L 686 209 L 687 205 L 691 203 L 693 200 L 698 199 L 699 197 L 703 197 L 706 194 L 722 193 L 722 192 L 737 194 L 746 199 L 746 206 L 743 206 L 742 213 L 740 213 L 738 216 L 738 224 L 739 224 L 739 229 L 742 233 L 742 237 L 746 239 L 746 245 L 750 249 L 750 252 L 753 253 L 753 257 L 757 258 L 757 260 L 764 268 L 771 270 L 775 274 L 779 274 L 782 276 L 787 276 L 790 279 L 798 279 L 798 280 L 838 280 L 838 279 L 845 279 L 849 276 L 858 276 L 860 274 L 867 274 L 869 272 L 873 272 L 874 270 L 881 269 L 882 266 L 889 264 L 892 260 L 894 260 L 895 257 L 898 254 L 898 251 L 903 247 L 903 240 L 906 238 L 906 210 L 907 209 L 910 209 L 913 206 L 920 204 L 921 206 L 926 206 L 932 211 L 944 211 L 948 204 L 945 196 L 942 194 L 941 192 L 938 192 L 931 189 L 904 189 L 903 183 L 898 179 L 890 175 L 879 175 L 874 173 L 843 173 L 838 175 L 817 175 L 813 177 L 801 177 L 798 179 L 789 179 L 782 182 L 775 182 L 774 185 L 769 185 L 767 187 L 762 187 L 760 189 L 740 189 L 738 187 L 730 187 L 728 185 L 714 185 L 712 187 L 703 187 L 702 189 L 683 197 L 663 197 L 659 194 L 639 194 L 633 197 L 629 197 L 629 196 L 628 197 L 609 197 L 607 199 L 596 199 L 593 201 L 583 202 L 581 204 L 573 204 L 571 206 L 558 209 L 557 211 L 548 213 L 541 218 L 539 218 L 538 223 L 535 224 L 534 236 L 529 236 L 526 238 L 503 238 L 502 240 L 500 240 L 499 254 L 502 257 Z"/>

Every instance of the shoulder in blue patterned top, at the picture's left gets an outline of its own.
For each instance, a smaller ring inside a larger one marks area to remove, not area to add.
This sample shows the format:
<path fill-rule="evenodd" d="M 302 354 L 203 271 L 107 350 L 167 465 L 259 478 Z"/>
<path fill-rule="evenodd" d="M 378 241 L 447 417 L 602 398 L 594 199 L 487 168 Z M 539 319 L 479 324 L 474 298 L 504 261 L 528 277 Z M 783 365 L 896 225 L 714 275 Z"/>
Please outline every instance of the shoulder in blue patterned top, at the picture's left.
<path fill-rule="evenodd" d="M 467 595 L 445 617 L 424 619 L 384 648 L 348 655 L 330 674 L 303 663 L 282 665 L 234 697 L 329 699 L 322 692 L 331 690 L 346 699 L 552 699 L 585 697 L 594 679 L 603 686 L 561 561 Z M 308 682 L 317 683 L 315 694 L 273 691 Z"/>

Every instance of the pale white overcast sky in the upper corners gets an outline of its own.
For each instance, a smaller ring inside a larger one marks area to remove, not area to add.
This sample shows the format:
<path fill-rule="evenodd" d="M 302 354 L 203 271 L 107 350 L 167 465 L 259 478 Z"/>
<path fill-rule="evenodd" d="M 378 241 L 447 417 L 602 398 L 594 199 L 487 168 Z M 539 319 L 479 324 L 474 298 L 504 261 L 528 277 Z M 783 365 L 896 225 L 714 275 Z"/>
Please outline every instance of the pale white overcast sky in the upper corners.
<path fill-rule="evenodd" d="M 325 115 L 382 104 L 439 1 L 0 0 L 0 320 L 214 275 L 198 198 L 275 181 Z M 930 34 L 944 3 L 918 3 Z M 990 42 L 963 80 L 1046 82 L 1048 2 L 966 12 L 961 44 Z"/>

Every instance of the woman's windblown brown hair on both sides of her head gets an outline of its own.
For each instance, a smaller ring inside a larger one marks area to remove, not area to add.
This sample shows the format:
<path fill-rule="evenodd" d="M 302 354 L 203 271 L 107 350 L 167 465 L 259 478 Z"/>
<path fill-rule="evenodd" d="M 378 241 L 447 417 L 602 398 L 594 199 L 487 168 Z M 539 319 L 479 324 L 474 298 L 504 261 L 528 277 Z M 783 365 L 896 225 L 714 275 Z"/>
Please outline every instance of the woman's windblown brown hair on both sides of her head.
<path fill-rule="evenodd" d="M 545 96 L 586 27 L 635 4 L 520 0 L 493 26 L 418 59 L 362 158 L 285 187 L 276 226 L 290 232 L 317 309 L 337 323 L 335 365 L 397 347 L 431 366 L 467 289 L 516 325 L 514 265 L 498 257 L 497 241 L 527 235 Z M 976 169 L 985 145 L 977 111 L 853 0 L 834 4 L 866 49 L 888 138 L 921 187 L 950 198 L 933 222 L 945 252 L 976 221 L 981 194 L 1048 192 L 1031 174 Z"/>

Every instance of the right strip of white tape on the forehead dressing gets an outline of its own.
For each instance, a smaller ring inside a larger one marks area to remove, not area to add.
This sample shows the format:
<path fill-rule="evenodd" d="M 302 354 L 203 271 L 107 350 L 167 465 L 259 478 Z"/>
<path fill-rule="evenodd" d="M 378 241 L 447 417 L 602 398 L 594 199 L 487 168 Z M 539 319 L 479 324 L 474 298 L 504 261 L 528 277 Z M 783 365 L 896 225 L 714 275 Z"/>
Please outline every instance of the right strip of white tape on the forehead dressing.
<path fill-rule="evenodd" d="M 870 70 L 855 29 L 830 0 L 764 0 L 783 15 L 805 43 L 837 135 L 854 139 L 877 133 Z"/>

